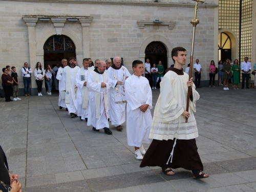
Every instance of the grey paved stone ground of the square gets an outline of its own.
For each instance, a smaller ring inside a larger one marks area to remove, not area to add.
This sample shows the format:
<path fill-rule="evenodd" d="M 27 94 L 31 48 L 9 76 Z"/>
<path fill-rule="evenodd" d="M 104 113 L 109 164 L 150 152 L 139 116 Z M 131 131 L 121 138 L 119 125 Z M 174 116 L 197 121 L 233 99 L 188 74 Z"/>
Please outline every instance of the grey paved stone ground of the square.
<path fill-rule="evenodd" d="M 198 92 L 197 144 L 207 179 L 194 180 L 182 168 L 172 177 L 159 167 L 140 168 L 125 125 L 122 132 L 111 125 L 112 136 L 93 132 L 58 109 L 57 94 L 0 99 L 0 143 L 27 192 L 256 191 L 256 90 Z M 153 90 L 153 105 L 158 95 Z"/>

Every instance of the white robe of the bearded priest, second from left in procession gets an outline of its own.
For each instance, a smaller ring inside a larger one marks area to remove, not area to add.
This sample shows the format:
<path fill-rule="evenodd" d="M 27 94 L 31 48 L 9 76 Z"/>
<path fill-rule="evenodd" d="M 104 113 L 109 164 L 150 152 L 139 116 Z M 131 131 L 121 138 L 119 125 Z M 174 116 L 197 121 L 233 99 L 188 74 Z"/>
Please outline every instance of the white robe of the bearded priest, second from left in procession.
<path fill-rule="evenodd" d="M 61 92 L 65 92 L 65 103 L 70 113 L 77 115 L 76 110 L 76 92 L 77 87 L 75 84 L 76 73 L 80 68 L 75 66 L 71 68 L 69 66 L 65 67 L 62 71 L 61 78 Z"/>

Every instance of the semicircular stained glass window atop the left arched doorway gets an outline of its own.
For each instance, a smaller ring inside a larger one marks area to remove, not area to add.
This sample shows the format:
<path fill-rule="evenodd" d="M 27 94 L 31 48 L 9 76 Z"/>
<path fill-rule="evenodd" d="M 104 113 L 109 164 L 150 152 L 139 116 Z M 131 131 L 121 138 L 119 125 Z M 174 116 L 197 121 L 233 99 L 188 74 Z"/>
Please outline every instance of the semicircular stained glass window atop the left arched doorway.
<path fill-rule="evenodd" d="M 44 45 L 45 52 L 75 52 L 74 42 L 65 35 L 53 35 Z"/>

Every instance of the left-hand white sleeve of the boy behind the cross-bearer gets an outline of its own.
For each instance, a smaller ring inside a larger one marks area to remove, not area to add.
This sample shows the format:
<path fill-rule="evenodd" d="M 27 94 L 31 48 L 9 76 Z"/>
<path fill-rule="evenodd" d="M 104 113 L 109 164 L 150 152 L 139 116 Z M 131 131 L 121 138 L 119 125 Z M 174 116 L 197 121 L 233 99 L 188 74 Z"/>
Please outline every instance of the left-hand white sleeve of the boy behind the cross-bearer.
<path fill-rule="evenodd" d="M 124 85 L 125 98 L 126 98 L 127 104 L 129 104 L 130 108 L 134 111 L 141 106 L 141 103 L 134 96 L 132 87 L 133 87 L 132 79 L 129 79 L 129 81 L 126 81 Z"/>

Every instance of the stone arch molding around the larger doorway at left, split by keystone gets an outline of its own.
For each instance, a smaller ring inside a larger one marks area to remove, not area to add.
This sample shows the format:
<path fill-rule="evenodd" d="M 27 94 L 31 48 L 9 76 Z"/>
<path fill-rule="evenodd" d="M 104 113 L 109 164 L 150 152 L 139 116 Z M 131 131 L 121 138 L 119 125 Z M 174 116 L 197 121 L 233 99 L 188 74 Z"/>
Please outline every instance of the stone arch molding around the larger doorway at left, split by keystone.
<path fill-rule="evenodd" d="M 76 58 L 80 63 L 80 61 L 83 59 L 82 58 L 83 57 L 82 40 L 79 39 L 79 37 L 69 29 L 64 28 L 61 34 L 68 36 L 74 42 L 76 46 Z M 49 29 L 48 31 L 44 32 L 44 34 L 42 34 L 36 42 L 36 59 L 37 61 L 41 62 L 43 66 L 44 66 L 44 45 L 46 40 L 53 35 L 56 35 L 56 30 Z"/>

